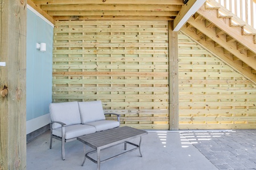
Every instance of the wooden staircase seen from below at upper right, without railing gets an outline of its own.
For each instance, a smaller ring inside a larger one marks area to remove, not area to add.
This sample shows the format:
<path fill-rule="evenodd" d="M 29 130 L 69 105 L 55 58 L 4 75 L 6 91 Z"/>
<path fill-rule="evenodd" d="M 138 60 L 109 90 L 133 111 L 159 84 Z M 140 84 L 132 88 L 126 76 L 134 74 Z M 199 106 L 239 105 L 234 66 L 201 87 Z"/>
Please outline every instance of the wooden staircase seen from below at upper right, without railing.
<path fill-rule="evenodd" d="M 214 0 L 208 0 L 181 32 L 256 84 L 256 30 Z"/>

